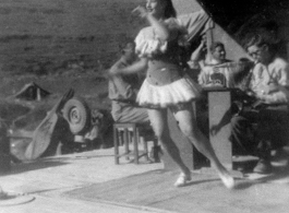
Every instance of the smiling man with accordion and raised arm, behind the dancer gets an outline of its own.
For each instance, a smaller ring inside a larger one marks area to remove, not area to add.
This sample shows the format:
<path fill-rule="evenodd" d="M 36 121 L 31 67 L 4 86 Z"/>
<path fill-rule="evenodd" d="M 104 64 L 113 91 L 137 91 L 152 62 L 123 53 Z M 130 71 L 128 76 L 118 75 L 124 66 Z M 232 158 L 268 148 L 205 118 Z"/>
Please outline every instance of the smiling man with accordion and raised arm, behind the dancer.
<path fill-rule="evenodd" d="M 213 43 L 208 52 L 204 55 L 205 39 L 191 56 L 189 64 L 192 69 L 200 68 L 197 81 L 202 86 L 232 87 L 230 60 L 226 59 L 226 50 L 222 43 Z"/>

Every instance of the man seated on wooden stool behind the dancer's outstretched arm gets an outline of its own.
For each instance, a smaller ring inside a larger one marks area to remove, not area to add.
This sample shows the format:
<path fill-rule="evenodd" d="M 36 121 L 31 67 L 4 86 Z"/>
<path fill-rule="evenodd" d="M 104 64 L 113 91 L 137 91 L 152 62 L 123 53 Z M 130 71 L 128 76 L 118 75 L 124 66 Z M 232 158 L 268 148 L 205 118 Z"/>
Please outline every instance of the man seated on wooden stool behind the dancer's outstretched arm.
<path fill-rule="evenodd" d="M 111 67 L 111 70 L 132 64 L 137 58 L 134 52 L 133 40 L 120 46 L 121 58 Z M 135 98 L 141 86 L 140 75 L 109 74 L 109 98 L 111 99 L 111 115 L 116 122 L 149 122 L 147 110 L 136 105 Z"/>

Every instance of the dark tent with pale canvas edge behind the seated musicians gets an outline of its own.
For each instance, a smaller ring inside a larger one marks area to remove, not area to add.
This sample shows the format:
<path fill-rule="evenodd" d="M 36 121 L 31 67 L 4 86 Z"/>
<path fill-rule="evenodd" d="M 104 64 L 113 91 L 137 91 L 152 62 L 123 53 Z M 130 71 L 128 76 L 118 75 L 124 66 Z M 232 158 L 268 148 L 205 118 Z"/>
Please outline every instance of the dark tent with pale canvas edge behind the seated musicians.
<path fill-rule="evenodd" d="M 249 57 L 242 48 L 246 33 L 265 28 L 276 34 L 282 45 L 284 57 L 289 51 L 288 0 L 172 0 L 178 14 L 205 10 L 215 23 L 213 40 L 225 44 L 232 60 Z"/>

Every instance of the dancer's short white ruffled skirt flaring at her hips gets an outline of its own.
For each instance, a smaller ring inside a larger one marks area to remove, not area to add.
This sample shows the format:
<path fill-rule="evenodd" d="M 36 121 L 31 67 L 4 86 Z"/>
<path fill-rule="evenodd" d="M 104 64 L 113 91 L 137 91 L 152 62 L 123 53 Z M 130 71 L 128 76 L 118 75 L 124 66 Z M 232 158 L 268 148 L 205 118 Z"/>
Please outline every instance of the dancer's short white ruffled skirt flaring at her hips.
<path fill-rule="evenodd" d="M 197 99 L 201 92 L 202 87 L 186 75 L 162 86 L 152 85 L 145 80 L 136 102 L 147 108 L 167 108 Z"/>

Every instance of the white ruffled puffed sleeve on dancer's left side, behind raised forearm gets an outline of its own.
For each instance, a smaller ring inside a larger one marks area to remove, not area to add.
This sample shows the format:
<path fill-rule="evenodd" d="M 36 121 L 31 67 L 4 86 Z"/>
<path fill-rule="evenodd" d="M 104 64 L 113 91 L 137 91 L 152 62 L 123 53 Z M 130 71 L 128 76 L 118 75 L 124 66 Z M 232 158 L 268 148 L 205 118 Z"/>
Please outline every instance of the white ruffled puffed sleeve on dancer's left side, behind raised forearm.
<path fill-rule="evenodd" d="M 165 52 L 168 43 L 154 34 L 153 27 L 141 29 L 135 38 L 135 52 L 139 57 L 152 57 L 155 54 Z"/>

